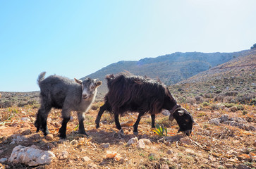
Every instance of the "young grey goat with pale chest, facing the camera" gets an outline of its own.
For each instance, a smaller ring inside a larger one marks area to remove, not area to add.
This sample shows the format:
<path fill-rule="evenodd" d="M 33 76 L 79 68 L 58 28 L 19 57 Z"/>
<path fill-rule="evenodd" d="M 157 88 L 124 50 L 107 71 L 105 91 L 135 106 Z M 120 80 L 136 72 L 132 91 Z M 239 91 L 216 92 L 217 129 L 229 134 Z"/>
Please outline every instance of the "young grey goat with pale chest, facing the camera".
<path fill-rule="evenodd" d="M 45 72 L 38 76 L 37 82 L 40 87 L 41 107 L 37 112 L 35 127 L 37 132 L 42 130 L 44 135 L 49 134 L 47 127 L 47 116 L 51 108 L 62 108 L 61 115 L 63 118 L 59 137 L 66 138 L 66 125 L 71 118 L 71 111 L 76 111 L 79 120 L 78 133 L 86 134 L 83 120 L 85 112 L 89 110 L 97 94 L 97 87 L 102 82 L 86 78 L 75 82 L 66 77 L 51 75 L 44 79 Z"/>

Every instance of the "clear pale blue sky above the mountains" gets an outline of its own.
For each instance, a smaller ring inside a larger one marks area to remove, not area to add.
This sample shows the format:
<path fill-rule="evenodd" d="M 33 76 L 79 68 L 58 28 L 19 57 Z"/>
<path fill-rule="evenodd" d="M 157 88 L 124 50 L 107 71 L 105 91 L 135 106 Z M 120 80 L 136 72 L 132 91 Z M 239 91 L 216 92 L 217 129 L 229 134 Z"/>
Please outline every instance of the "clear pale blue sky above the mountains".
<path fill-rule="evenodd" d="M 84 77 L 118 61 L 256 43 L 255 0 L 0 1 L 0 91 Z"/>

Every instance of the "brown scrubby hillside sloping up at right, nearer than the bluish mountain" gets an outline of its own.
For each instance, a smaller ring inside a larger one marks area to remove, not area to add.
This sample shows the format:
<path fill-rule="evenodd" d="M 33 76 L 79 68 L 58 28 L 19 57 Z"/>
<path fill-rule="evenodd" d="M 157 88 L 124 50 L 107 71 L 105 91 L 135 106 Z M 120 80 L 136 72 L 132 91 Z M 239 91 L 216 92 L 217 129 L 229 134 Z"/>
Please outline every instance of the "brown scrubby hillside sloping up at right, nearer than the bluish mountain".
<path fill-rule="evenodd" d="M 219 101 L 256 105 L 256 49 L 169 87 L 180 103 Z"/>

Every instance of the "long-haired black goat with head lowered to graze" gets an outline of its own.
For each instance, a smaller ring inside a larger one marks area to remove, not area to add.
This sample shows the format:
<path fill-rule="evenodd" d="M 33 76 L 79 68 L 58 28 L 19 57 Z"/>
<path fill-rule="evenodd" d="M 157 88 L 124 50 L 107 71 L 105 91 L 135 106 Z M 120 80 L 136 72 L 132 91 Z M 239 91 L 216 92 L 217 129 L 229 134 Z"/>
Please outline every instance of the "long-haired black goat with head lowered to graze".
<path fill-rule="evenodd" d="M 173 99 L 169 89 L 157 80 L 134 75 L 106 75 L 109 92 L 105 96 L 105 103 L 99 108 L 96 127 L 104 111 L 114 113 L 116 127 L 123 134 L 118 116 L 127 111 L 138 112 L 138 119 L 133 125 L 133 133 L 138 134 L 138 124 L 140 118 L 145 113 L 150 113 L 152 118 L 152 128 L 157 113 L 163 109 L 169 110 L 171 115 L 169 120 L 176 119 L 180 129 L 178 132 L 185 132 L 189 135 L 193 127 L 193 117 L 190 113 L 181 108 Z"/>

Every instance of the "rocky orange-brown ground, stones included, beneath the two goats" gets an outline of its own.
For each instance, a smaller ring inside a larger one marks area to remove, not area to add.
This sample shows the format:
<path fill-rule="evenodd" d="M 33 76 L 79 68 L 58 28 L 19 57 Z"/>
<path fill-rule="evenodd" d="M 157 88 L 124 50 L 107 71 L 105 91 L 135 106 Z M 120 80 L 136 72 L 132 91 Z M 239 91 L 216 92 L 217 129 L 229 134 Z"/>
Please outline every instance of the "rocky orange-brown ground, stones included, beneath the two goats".
<path fill-rule="evenodd" d="M 116 134 L 114 120 L 105 113 L 95 128 L 98 102 L 86 113 L 85 128 L 90 137 L 76 133 L 74 113 L 68 123 L 67 139 L 58 137 L 59 110 L 48 118 L 51 134 L 35 133 L 35 106 L 0 109 L 0 168 L 256 168 L 256 108 L 243 110 L 224 104 L 183 104 L 197 123 L 187 137 L 168 116 L 157 115 L 156 123 L 167 128 L 160 137 L 150 128 L 150 115 L 133 134 L 136 113 L 121 117 L 125 137 Z M 217 105 L 217 106 L 212 106 Z M 20 146 L 19 146 L 20 145 Z"/>

